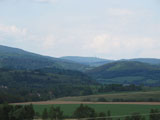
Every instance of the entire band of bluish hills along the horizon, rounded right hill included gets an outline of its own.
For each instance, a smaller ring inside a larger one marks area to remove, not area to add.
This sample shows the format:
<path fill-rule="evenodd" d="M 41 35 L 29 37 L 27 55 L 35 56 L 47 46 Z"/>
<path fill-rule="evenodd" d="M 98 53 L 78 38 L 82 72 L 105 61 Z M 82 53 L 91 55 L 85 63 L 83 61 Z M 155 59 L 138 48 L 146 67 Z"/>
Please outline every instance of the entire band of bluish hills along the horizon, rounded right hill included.
<path fill-rule="evenodd" d="M 160 59 L 154 58 L 122 60 L 79 56 L 54 58 L 18 48 L 0 46 L 0 68 L 75 70 L 91 76 L 99 83 L 160 85 Z M 61 75 L 64 73 L 62 72 Z"/>

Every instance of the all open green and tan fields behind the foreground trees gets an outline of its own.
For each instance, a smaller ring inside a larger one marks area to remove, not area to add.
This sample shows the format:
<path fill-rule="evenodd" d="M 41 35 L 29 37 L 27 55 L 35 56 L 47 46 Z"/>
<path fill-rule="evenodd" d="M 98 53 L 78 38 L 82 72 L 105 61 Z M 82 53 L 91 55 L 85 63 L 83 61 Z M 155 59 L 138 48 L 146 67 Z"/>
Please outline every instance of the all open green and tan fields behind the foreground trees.
<path fill-rule="evenodd" d="M 41 102 L 26 102 L 26 103 L 16 103 L 16 104 L 30 104 L 34 105 L 36 112 L 40 114 L 44 108 L 49 109 L 52 105 L 60 106 L 64 111 L 65 116 L 71 117 L 74 110 L 80 105 L 85 104 L 94 108 L 97 112 L 111 111 L 113 116 L 120 115 L 130 115 L 132 113 L 138 112 L 141 114 L 148 114 L 150 109 L 159 109 L 160 102 L 85 102 L 85 99 L 90 99 L 96 101 L 98 98 L 104 97 L 107 100 L 112 100 L 116 98 L 123 99 L 159 99 L 160 91 L 150 91 L 150 92 L 128 92 L 128 93 L 109 93 L 102 95 L 90 95 L 90 96 L 80 96 L 80 97 L 65 97 L 59 98 L 53 101 L 41 101 Z"/>

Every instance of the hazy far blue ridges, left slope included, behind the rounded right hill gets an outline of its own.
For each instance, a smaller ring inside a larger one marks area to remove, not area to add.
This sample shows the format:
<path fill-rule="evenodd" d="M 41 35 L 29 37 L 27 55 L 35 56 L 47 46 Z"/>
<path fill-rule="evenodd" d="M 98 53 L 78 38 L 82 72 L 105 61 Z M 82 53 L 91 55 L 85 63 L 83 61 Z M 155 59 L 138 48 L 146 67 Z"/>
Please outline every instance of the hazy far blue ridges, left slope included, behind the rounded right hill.
<path fill-rule="evenodd" d="M 80 56 L 54 58 L 27 52 L 18 48 L 0 45 L 0 68 L 8 67 L 16 69 L 38 69 L 44 67 L 56 67 L 60 69 L 85 71 L 116 61 L 136 61 L 160 65 L 160 59 L 155 58 L 136 58 L 123 60 L 108 60 L 97 57 Z"/>

